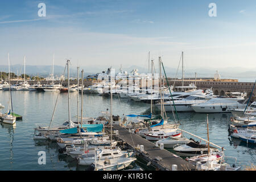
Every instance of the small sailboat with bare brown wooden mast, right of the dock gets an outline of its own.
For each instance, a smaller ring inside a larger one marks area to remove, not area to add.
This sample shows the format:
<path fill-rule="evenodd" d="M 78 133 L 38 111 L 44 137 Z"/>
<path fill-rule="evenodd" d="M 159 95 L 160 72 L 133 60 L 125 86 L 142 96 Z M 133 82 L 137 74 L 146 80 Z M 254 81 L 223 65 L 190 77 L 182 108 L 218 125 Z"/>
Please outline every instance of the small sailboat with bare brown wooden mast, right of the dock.
<path fill-rule="evenodd" d="M 224 158 L 224 152 L 223 151 L 216 151 L 212 152 L 210 151 L 210 144 L 209 144 L 209 124 L 208 124 L 208 114 L 207 114 L 207 148 L 208 148 L 208 154 L 194 156 L 192 158 L 187 159 L 188 162 L 192 163 L 196 166 L 197 162 L 200 162 L 201 164 L 207 163 L 207 162 L 221 162 L 221 160 Z"/>

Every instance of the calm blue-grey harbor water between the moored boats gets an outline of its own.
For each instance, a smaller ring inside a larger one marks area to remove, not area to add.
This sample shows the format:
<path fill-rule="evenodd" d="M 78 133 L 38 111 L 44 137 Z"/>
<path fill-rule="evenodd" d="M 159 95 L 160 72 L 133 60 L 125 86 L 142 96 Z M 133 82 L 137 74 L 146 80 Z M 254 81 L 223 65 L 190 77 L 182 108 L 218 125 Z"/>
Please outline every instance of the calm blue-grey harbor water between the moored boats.
<path fill-rule="evenodd" d="M 59 125 L 68 120 L 67 93 L 61 93 L 53 119 L 53 125 Z M 55 142 L 36 143 L 33 139 L 34 128 L 40 125 L 48 126 L 51 121 L 57 93 L 51 92 L 24 92 L 14 91 L 14 113 L 23 116 L 23 121 L 16 121 L 16 126 L 4 123 L 0 125 L 0 170 L 84 170 L 86 167 L 77 165 L 77 161 L 66 155 L 59 154 Z M 81 95 L 80 95 L 81 96 Z M 2 113 L 9 107 L 9 92 L 0 91 L 0 103 L 5 106 Z M 101 111 L 110 107 L 110 97 L 84 95 L 84 116 L 97 117 Z M 141 114 L 150 109 L 150 105 L 133 102 L 127 99 L 113 97 L 113 114 Z M 71 93 L 71 114 L 77 113 L 77 93 Z M 172 114 L 167 114 L 172 122 Z M 234 156 L 242 166 L 256 164 L 256 147 L 229 139 L 229 113 L 209 114 L 210 141 L 223 146 L 225 155 Z M 179 113 L 180 128 L 199 137 L 207 139 L 206 114 Z M 184 134 L 190 138 L 188 134 Z M 194 137 L 193 137 L 194 138 Z M 203 142 L 202 142 L 203 143 Z M 46 152 L 46 164 L 38 164 L 38 152 Z M 143 161 L 138 160 L 133 166 L 141 166 Z M 145 163 L 145 162 L 144 162 Z"/>

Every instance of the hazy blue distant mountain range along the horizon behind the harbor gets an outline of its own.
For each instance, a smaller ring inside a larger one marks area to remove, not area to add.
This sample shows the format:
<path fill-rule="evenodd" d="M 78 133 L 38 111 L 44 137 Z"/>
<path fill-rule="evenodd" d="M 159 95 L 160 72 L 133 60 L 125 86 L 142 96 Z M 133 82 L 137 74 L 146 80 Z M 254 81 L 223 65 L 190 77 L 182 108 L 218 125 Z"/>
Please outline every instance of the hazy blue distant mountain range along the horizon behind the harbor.
<path fill-rule="evenodd" d="M 85 76 L 93 75 L 95 73 L 101 73 L 102 71 L 107 71 L 110 66 L 108 65 L 95 65 L 95 66 L 81 66 L 81 69 L 84 69 Z M 120 66 L 114 66 L 115 72 L 118 73 Z M 24 65 L 22 64 L 15 64 L 11 65 L 11 72 L 15 73 L 16 75 L 24 73 Z M 123 67 L 123 71 L 127 71 L 130 73 L 133 69 L 138 69 L 139 73 L 147 73 L 148 67 L 141 67 L 137 65 L 131 65 L 129 67 Z M 158 72 L 158 67 L 155 68 L 156 72 Z M 168 77 L 175 77 L 177 68 L 170 68 L 165 67 L 166 74 Z M 229 78 L 229 77 L 255 77 L 256 78 L 256 69 L 251 68 L 195 68 L 195 69 L 184 69 L 184 77 L 195 77 L 195 72 L 197 73 L 197 77 L 213 77 L 214 73 L 218 70 L 221 77 Z M 8 65 L 0 65 L 0 71 L 8 72 Z M 64 67 L 60 65 L 54 66 L 54 75 L 60 76 L 64 72 Z M 40 76 L 40 77 L 47 77 L 49 74 L 52 73 L 52 65 L 26 65 L 26 74 L 30 76 Z M 67 75 L 67 71 L 66 71 Z M 70 76 L 77 77 L 77 68 L 71 65 L 70 69 Z M 177 72 L 177 77 L 181 77 L 181 68 Z"/>

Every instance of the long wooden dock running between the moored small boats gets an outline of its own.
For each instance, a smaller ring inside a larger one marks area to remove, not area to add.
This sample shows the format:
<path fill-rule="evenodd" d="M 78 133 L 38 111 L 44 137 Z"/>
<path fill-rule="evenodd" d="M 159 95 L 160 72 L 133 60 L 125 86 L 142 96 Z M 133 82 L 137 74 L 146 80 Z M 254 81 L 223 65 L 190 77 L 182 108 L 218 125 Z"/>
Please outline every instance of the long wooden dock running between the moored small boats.
<path fill-rule="evenodd" d="M 137 134 L 131 134 L 129 130 L 121 126 L 113 126 L 113 131 L 118 130 L 119 140 L 129 144 L 135 150 L 139 152 L 143 159 L 151 162 L 152 166 L 162 170 L 162 171 L 172 171 L 172 165 L 177 165 L 178 171 L 194 171 L 195 166 L 188 163 L 186 160 L 180 158 L 177 155 L 172 154 L 168 150 L 161 150 L 160 147 L 156 147 L 154 143 L 142 138 Z M 140 151 L 137 146 L 144 146 L 144 151 Z"/>

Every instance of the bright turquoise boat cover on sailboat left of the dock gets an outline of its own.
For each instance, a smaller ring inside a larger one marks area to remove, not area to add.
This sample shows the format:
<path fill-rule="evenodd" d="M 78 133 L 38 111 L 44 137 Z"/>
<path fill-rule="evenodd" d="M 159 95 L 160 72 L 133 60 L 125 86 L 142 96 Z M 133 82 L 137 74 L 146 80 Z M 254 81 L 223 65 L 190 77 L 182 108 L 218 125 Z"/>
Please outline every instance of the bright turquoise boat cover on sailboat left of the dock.
<path fill-rule="evenodd" d="M 82 125 L 81 132 L 85 132 L 83 129 L 86 129 L 87 132 L 101 132 L 103 129 L 103 124 L 86 124 Z M 60 130 L 60 133 L 67 133 L 67 134 L 75 134 L 77 133 L 77 127 L 73 127 L 71 129 Z"/>

